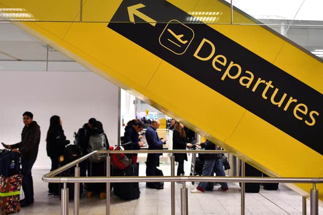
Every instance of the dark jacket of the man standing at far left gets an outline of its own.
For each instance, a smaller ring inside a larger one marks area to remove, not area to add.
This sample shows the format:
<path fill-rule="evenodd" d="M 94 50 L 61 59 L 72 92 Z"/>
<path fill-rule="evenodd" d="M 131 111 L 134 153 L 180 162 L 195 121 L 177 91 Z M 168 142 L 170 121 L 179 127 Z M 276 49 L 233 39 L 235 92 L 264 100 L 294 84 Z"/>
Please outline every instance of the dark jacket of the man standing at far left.
<path fill-rule="evenodd" d="M 32 121 L 29 126 L 22 129 L 21 142 L 11 146 L 12 149 L 19 149 L 23 158 L 37 158 L 40 142 L 40 127 L 36 121 Z"/>

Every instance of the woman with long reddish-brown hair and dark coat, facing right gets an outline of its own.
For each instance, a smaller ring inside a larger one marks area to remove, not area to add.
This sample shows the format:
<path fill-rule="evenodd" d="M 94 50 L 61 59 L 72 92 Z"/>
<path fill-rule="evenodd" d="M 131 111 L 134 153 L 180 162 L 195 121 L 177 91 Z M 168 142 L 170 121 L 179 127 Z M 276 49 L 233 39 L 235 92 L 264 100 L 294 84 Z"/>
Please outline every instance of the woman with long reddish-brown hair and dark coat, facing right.
<path fill-rule="evenodd" d="M 186 147 L 193 145 L 187 143 L 184 125 L 176 122 L 173 131 L 173 150 L 186 150 Z M 184 160 L 187 161 L 187 154 L 174 153 L 175 161 L 178 162 L 177 175 L 184 175 Z"/>

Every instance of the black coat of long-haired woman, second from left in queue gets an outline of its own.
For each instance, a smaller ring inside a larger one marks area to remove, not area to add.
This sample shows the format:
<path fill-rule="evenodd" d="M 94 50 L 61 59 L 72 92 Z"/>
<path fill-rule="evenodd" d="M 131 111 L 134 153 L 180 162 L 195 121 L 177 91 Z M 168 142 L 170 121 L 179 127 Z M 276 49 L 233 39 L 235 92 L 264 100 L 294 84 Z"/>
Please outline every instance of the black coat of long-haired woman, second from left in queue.
<path fill-rule="evenodd" d="M 46 151 L 47 156 L 51 158 L 63 155 L 66 145 L 70 144 L 70 140 L 66 139 L 62 127 L 51 128 L 47 132 Z"/>

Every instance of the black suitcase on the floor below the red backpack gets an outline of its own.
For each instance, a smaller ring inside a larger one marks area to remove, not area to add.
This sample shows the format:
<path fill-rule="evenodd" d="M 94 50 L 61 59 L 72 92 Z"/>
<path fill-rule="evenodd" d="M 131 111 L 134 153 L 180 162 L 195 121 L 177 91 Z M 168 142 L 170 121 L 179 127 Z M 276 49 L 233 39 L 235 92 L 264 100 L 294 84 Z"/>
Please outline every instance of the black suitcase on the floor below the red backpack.
<path fill-rule="evenodd" d="M 113 167 L 112 176 L 138 176 L 138 163 L 131 164 L 124 170 Z M 139 183 L 113 183 L 114 194 L 124 200 L 132 200 L 140 197 Z"/>

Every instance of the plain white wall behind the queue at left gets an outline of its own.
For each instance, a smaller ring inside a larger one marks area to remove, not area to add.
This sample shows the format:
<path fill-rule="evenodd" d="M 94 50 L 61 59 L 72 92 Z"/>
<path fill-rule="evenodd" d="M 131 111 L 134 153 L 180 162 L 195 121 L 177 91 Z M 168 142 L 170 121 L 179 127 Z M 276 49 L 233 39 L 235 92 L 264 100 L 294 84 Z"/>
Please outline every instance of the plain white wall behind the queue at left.
<path fill-rule="evenodd" d="M 90 117 L 103 123 L 110 145 L 117 142 L 118 87 L 94 73 L 1 71 L 0 99 L 0 141 L 20 141 L 24 111 L 31 111 L 40 125 L 35 169 L 50 168 L 45 138 L 52 115 L 61 116 L 65 135 L 71 142 L 73 132 Z"/>

